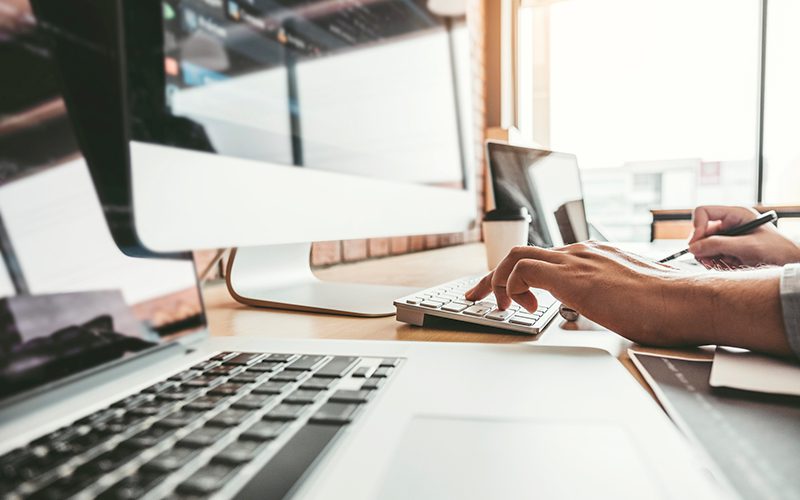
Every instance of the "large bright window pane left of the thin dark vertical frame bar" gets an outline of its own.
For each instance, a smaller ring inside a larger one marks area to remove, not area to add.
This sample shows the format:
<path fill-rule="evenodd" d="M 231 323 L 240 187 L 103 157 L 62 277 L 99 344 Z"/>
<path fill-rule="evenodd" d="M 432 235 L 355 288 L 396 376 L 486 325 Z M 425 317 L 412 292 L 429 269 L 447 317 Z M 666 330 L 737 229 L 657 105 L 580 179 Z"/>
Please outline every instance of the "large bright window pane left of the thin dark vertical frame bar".
<path fill-rule="evenodd" d="M 610 239 L 647 239 L 650 208 L 756 201 L 760 9 L 759 0 L 519 9 L 518 126 L 577 154 L 587 215 Z"/>

